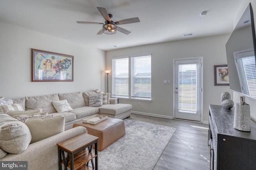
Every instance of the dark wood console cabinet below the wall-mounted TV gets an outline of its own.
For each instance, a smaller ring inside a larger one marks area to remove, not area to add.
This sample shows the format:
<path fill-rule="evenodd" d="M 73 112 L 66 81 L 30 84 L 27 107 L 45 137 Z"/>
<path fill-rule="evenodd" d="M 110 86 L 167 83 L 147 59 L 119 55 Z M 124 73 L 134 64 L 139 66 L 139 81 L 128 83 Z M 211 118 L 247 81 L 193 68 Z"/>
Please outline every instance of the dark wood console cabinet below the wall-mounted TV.
<path fill-rule="evenodd" d="M 210 170 L 256 170 L 256 123 L 251 132 L 234 129 L 234 107 L 209 106 Z"/>

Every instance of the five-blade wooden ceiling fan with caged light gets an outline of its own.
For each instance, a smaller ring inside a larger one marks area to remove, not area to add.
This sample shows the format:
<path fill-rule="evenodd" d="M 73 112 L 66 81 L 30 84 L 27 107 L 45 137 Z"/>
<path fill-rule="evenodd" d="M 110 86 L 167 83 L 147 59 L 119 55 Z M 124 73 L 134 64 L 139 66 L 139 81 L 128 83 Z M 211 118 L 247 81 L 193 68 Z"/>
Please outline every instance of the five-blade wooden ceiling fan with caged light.
<path fill-rule="evenodd" d="M 86 21 L 76 21 L 77 23 L 92 23 L 92 24 L 103 24 L 102 29 L 97 33 L 97 35 L 105 33 L 105 34 L 114 34 L 116 31 L 120 31 L 121 33 L 124 33 L 128 35 L 131 33 L 131 31 L 128 31 L 127 29 L 118 27 L 117 25 L 122 25 L 122 24 L 127 24 L 127 23 L 135 23 L 135 22 L 140 22 L 138 17 L 135 18 L 128 18 L 125 20 L 120 20 L 120 21 L 112 21 L 112 14 L 108 14 L 107 10 L 105 8 L 100 8 L 97 7 L 100 14 L 103 16 L 105 19 L 104 23 L 100 22 L 86 22 Z"/>

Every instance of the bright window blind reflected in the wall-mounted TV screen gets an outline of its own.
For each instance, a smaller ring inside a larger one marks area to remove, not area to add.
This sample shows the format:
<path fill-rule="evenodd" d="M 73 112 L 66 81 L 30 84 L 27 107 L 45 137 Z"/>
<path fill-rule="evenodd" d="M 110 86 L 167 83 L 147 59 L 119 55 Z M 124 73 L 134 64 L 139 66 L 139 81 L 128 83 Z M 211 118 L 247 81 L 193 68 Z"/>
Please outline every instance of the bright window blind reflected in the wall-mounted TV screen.
<path fill-rule="evenodd" d="M 246 86 L 248 87 L 248 91 L 250 96 L 256 97 L 256 67 L 255 67 L 255 57 L 243 57 L 242 66 L 246 79 Z"/>

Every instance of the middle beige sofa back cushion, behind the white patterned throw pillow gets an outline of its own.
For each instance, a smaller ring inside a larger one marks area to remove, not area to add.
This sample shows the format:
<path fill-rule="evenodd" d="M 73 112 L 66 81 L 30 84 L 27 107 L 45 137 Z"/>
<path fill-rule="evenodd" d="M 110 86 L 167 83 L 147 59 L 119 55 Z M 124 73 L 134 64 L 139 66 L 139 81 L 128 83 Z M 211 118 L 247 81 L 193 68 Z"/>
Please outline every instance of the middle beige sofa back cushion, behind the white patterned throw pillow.
<path fill-rule="evenodd" d="M 68 104 L 72 109 L 76 109 L 78 107 L 84 107 L 84 98 L 81 92 L 75 93 L 59 93 L 60 100 L 67 100 Z"/>

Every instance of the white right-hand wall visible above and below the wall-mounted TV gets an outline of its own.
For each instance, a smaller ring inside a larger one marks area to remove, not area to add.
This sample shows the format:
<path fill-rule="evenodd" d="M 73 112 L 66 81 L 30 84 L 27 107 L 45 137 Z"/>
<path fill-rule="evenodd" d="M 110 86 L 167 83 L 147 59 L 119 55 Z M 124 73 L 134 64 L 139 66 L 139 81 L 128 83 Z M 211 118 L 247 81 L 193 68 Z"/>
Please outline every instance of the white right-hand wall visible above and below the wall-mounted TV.
<path fill-rule="evenodd" d="M 237 24 L 237 22 L 240 20 L 242 14 L 244 13 L 245 9 L 247 8 L 250 2 L 252 4 L 252 10 L 254 12 L 254 23 L 256 23 L 256 0 L 243 0 L 240 8 L 238 9 L 236 16 L 234 17 L 234 27 Z M 234 92 L 234 103 L 239 102 L 240 96 L 244 96 L 244 95 Z M 250 97 L 246 97 L 245 101 L 247 104 L 250 104 L 251 118 L 254 122 L 256 122 L 256 100 Z"/>

